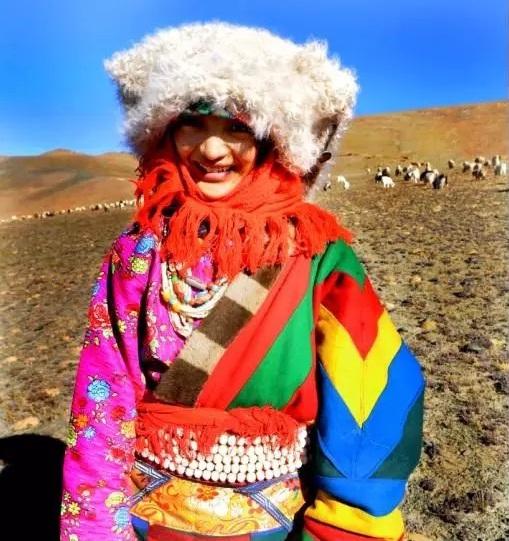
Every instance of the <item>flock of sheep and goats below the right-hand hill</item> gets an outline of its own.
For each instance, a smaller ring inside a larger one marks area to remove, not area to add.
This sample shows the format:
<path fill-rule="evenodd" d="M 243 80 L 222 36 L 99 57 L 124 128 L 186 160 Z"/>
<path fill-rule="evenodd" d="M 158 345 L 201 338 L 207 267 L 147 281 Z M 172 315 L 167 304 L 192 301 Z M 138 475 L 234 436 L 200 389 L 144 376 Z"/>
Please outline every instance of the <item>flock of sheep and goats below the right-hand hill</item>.
<path fill-rule="evenodd" d="M 456 168 L 456 162 L 454 160 L 448 160 L 447 162 L 449 170 Z M 422 168 L 422 169 L 421 169 Z M 502 160 L 502 156 L 497 154 L 487 160 L 483 156 L 477 156 L 473 161 L 463 162 L 463 173 L 472 173 L 472 176 L 481 180 L 486 178 L 487 170 L 493 169 L 493 172 L 497 176 L 507 175 L 507 163 Z M 371 174 L 371 168 L 366 169 L 366 173 Z M 441 190 L 448 184 L 448 175 L 444 172 L 440 172 L 438 169 L 432 168 L 430 162 L 412 162 L 408 166 L 402 166 L 398 164 L 394 170 L 396 177 L 403 177 L 405 181 L 413 182 L 415 184 L 421 183 L 428 185 L 435 190 Z M 394 188 L 395 182 L 391 176 L 390 166 L 378 166 L 375 176 L 375 183 L 383 188 Z M 336 177 L 337 183 L 345 190 L 350 188 L 350 183 L 343 175 Z M 329 179 L 325 185 L 324 190 L 330 190 L 332 188 L 332 181 Z"/>

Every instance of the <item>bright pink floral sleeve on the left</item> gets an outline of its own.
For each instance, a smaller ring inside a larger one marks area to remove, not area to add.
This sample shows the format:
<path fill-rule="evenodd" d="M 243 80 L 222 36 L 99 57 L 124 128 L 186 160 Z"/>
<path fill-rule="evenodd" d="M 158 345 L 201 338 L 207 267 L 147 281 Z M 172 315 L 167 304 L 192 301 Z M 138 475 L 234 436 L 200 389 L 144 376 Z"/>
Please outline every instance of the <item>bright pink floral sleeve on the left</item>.
<path fill-rule="evenodd" d="M 138 320 L 154 239 L 124 231 L 92 290 L 64 459 L 61 540 L 134 540 L 127 498 L 135 404 L 144 392 Z"/>

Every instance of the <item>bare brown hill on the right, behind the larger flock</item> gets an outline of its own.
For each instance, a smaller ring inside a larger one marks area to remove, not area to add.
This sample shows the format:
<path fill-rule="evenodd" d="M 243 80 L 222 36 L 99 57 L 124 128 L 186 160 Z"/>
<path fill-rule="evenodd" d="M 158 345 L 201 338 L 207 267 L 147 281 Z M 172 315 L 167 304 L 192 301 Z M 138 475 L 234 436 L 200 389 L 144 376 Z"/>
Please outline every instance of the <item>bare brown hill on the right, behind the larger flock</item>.
<path fill-rule="evenodd" d="M 440 107 L 356 118 L 340 149 L 339 168 L 355 173 L 387 162 L 430 161 L 506 154 L 509 102 Z"/>

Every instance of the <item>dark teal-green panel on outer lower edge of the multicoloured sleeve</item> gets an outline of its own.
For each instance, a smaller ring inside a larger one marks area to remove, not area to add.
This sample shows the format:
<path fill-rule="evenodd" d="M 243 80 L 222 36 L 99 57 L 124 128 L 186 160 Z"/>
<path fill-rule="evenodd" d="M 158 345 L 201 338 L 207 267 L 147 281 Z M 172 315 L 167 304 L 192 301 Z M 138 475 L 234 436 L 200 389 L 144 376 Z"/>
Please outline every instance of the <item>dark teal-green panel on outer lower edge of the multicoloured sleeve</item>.
<path fill-rule="evenodd" d="M 424 390 L 408 412 L 398 445 L 371 478 L 407 479 L 412 473 L 421 455 L 423 407 Z"/>

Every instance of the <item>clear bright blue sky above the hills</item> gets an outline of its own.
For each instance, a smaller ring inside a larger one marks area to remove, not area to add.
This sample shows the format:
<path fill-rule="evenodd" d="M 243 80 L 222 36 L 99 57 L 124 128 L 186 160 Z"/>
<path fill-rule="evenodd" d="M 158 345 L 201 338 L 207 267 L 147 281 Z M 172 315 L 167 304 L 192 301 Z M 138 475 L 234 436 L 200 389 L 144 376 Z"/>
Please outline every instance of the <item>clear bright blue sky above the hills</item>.
<path fill-rule="evenodd" d="M 13 0 L 1 3 L 0 155 L 126 150 L 102 61 L 156 28 L 225 20 L 326 39 L 357 115 L 507 99 L 506 0 Z"/>

